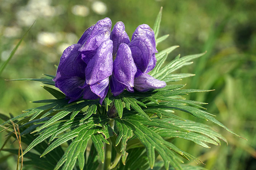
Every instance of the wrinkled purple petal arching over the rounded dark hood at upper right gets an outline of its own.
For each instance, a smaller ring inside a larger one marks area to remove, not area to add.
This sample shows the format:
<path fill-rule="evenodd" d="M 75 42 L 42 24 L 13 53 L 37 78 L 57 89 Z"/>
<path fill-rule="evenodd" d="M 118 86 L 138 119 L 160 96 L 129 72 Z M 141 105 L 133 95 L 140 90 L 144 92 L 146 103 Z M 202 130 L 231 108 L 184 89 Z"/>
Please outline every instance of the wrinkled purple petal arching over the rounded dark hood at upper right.
<path fill-rule="evenodd" d="M 157 49 L 155 47 L 155 33 L 154 31 L 149 27 L 147 24 L 139 25 L 136 30 L 133 33 L 133 36 L 131 37 L 131 41 L 135 39 L 138 36 L 146 36 L 150 39 L 150 42 L 152 44 L 153 53 L 157 53 Z"/>

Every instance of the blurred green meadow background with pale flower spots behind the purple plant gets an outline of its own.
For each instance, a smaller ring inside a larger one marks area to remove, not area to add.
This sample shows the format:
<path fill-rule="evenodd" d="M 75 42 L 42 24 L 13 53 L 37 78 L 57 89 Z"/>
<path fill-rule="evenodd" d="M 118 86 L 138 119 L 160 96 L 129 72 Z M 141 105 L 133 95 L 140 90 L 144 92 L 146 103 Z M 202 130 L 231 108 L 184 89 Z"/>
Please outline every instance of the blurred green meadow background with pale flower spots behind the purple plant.
<path fill-rule="evenodd" d="M 140 24 L 153 27 L 161 6 L 163 17 L 159 36 L 170 36 L 158 45 L 158 50 L 180 46 L 169 55 L 169 61 L 177 54 L 208 51 L 193 65 L 179 70 L 196 76 L 178 83 L 187 83 L 186 88 L 215 91 L 192 94 L 187 99 L 209 103 L 206 105 L 208 112 L 248 139 L 235 137 L 211 124 L 227 138 L 228 146 L 223 142 L 221 146 L 205 149 L 185 140 L 174 143 L 202 160 L 206 164 L 202 167 L 255 170 L 255 0 L 1 0 L 0 65 L 34 20 L 36 22 L 0 75 L 0 113 L 19 115 L 22 110 L 38 106 L 29 101 L 52 98 L 39 82 L 8 82 L 5 79 L 39 78 L 42 73 L 54 75 L 54 65 L 58 65 L 63 50 L 77 42 L 83 31 L 99 19 L 110 17 L 113 25 L 122 20 L 131 36 Z M 0 134 L 0 146 L 5 134 Z M 8 143 L 6 147 L 18 148 L 18 144 Z M 15 169 L 16 160 L 16 155 L 1 151 L 0 169 Z M 194 162 L 189 164 L 195 165 Z"/>

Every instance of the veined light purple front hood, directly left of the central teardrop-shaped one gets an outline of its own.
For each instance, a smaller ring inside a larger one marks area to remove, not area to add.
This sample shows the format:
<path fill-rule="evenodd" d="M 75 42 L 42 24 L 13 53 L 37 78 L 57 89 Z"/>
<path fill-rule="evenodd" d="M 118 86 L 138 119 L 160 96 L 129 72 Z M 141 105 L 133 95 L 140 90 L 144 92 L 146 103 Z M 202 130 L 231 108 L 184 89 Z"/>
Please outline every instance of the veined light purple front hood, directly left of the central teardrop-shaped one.
<path fill-rule="evenodd" d="M 93 85 L 112 75 L 113 71 L 113 42 L 109 39 L 99 46 L 94 57 L 85 69 L 86 83 Z"/>

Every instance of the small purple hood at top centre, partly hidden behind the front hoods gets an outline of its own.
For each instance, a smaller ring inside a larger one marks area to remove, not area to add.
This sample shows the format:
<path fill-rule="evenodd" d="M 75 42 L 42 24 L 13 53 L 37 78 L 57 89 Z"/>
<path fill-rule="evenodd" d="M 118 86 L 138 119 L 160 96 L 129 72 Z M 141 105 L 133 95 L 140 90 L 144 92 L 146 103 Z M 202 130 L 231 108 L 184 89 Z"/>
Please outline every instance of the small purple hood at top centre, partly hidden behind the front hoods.
<path fill-rule="evenodd" d="M 110 33 L 110 39 L 113 41 L 113 55 L 117 53 L 118 47 L 122 42 L 125 44 L 130 43 L 130 38 L 125 32 L 125 24 L 123 22 L 119 21 L 114 25 Z"/>

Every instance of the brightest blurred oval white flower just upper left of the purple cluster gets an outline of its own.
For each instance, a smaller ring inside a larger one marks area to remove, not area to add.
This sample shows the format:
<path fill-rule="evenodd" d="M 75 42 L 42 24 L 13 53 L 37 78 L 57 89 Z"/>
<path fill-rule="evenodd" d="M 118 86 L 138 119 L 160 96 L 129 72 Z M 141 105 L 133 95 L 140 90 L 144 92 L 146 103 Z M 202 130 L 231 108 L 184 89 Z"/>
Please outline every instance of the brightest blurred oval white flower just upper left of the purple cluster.
<path fill-rule="evenodd" d="M 56 33 L 41 32 L 37 35 L 37 42 L 45 46 L 52 46 L 58 41 Z"/>

